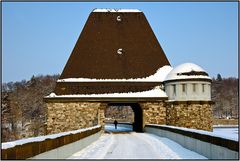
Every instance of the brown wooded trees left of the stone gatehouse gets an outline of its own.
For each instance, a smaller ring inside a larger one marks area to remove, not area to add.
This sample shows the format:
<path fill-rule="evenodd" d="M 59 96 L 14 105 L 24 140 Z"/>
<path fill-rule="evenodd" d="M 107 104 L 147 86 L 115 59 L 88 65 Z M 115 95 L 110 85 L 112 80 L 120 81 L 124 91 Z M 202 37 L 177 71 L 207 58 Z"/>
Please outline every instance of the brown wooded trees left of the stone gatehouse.
<path fill-rule="evenodd" d="M 45 135 L 46 104 L 43 97 L 55 87 L 59 75 L 32 76 L 29 81 L 2 84 L 2 142 Z"/>

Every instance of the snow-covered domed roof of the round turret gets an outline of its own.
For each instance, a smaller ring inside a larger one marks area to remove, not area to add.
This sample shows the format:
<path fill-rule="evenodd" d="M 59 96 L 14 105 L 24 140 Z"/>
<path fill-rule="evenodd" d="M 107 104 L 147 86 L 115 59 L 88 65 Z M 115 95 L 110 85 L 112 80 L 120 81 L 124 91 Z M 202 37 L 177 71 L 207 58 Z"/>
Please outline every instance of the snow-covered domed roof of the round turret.
<path fill-rule="evenodd" d="M 184 63 L 173 68 L 164 81 L 178 79 L 211 79 L 205 70 L 193 63 Z"/>

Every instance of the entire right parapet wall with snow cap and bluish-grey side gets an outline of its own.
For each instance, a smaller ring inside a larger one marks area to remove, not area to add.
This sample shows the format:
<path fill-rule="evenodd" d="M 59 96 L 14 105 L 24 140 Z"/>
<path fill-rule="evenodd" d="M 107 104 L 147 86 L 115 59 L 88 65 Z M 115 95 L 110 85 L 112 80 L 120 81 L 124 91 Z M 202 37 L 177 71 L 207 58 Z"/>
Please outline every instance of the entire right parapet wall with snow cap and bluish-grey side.
<path fill-rule="evenodd" d="M 208 131 L 149 124 L 145 132 L 169 138 L 208 159 L 239 159 L 239 142 Z"/>

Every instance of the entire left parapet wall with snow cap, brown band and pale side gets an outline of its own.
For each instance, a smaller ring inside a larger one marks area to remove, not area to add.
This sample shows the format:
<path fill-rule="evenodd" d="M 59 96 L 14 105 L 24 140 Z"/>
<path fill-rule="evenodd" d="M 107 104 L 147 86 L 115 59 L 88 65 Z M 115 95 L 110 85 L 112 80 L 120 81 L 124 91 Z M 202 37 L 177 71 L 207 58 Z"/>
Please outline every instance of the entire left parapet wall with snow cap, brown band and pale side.
<path fill-rule="evenodd" d="M 2 143 L 1 159 L 65 159 L 95 141 L 101 126 Z M 12 145 L 16 143 L 16 146 Z"/>

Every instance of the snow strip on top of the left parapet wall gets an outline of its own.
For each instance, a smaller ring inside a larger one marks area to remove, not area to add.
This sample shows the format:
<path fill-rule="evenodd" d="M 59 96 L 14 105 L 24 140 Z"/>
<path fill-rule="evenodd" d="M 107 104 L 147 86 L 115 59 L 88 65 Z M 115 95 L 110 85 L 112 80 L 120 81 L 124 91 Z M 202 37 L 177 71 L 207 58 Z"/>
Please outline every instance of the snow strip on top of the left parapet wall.
<path fill-rule="evenodd" d="M 100 127 L 100 125 L 97 125 L 97 126 L 93 126 L 93 127 L 89 127 L 89 128 L 85 128 L 85 129 L 62 132 L 62 133 L 58 133 L 58 134 L 51 134 L 51 135 L 38 136 L 38 137 L 32 137 L 32 138 L 25 138 L 25 139 L 15 140 L 15 141 L 11 141 L 11 142 L 5 142 L 5 143 L 2 143 L 2 149 L 8 149 L 8 148 L 15 147 L 17 145 L 23 145 L 23 144 L 31 143 L 31 142 L 40 142 L 40 141 L 44 141 L 46 139 L 55 139 L 55 138 L 58 138 L 61 136 L 66 136 L 69 134 L 77 134 L 77 133 L 81 133 L 81 132 L 84 132 L 87 130 L 96 129 L 99 127 Z"/>

